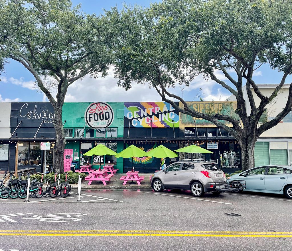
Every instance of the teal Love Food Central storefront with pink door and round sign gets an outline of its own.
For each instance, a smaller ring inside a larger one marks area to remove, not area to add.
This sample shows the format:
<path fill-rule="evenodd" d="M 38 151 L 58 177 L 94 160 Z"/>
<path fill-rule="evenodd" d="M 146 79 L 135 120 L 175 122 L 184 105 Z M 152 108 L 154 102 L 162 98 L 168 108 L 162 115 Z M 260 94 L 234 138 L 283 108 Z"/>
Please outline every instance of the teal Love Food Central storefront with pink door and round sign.
<path fill-rule="evenodd" d="M 63 128 L 67 144 L 64 153 L 64 170 L 72 161 L 79 166 L 92 164 L 93 168 L 107 163 L 123 172 L 123 159 L 114 156 L 84 156 L 97 144 L 104 144 L 113 151 L 124 149 L 124 103 L 79 102 L 65 103 L 62 110 Z M 89 126 L 90 125 L 90 126 Z"/>

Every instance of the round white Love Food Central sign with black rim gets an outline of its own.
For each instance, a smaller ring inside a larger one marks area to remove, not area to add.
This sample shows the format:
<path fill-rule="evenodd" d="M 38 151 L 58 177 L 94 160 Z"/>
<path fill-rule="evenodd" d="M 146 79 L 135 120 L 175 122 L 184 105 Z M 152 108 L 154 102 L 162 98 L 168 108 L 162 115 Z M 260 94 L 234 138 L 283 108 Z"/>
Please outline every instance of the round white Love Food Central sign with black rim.
<path fill-rule="evenodd" d="M 91 128 L 106 128 L 114 121 L 114 112 L 109 104 L 96 102 L 86 108 L 84 118 Z"/>

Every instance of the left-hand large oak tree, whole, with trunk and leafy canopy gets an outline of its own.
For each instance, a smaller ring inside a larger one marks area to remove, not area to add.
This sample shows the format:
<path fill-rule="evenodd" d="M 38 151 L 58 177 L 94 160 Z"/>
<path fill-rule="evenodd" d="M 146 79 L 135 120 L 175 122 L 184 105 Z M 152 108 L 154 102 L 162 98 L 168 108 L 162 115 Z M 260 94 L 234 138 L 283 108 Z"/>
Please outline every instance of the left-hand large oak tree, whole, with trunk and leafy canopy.
<path fill-rule="evenodd" d="M 19 62 L 51 102 L 57 172 L 64 168 L 62 106 L 67 89 L 87 74 L 106 74 L 108 31 L 104 18 L 82 13 L 69 0 L 0 0 L 0 67 L 5 69 L 9 60 Z"/>

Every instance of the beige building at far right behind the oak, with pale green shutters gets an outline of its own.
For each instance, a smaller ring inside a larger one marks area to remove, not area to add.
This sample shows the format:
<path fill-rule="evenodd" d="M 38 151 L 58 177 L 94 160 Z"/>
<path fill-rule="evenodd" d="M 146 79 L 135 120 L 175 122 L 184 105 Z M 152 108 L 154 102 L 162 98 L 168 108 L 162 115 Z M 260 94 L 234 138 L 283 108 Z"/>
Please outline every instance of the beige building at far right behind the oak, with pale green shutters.
<path fill-rule="evenodd" d="M 259 84 L 260 92 L 265 96 L 270 96 L 277 87 L 277 84 Z M 281 88 L 278 96 L 266 105 L 265 113 L 262 115 L 259 124 L 269 121 L 277 116 L 286 105 L 289 85 Z M 258 107 L 260 98 L 251 88 L 253 97 Z M 251 113 L 251 106 L 244 86 L 244 99 L 246 100 L 246 110 Z M 229 100 L 236 100 L 234 95 Z M 260 135 L 255 147 L 255 165 L 287 165 L 292 164 L 292 111 L 276 126 Z"/>

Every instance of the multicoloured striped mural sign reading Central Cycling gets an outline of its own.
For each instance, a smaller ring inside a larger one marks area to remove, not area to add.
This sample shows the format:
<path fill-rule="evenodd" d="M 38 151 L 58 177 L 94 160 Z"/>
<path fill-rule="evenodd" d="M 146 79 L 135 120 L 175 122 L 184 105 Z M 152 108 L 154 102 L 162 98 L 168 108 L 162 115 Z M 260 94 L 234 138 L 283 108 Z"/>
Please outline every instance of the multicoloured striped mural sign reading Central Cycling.
<path fill-rule="evenodd" d="M 179 113 L 166 102 L 125 102 L 124 127 L 129 126 L 179 127 Z"/>

